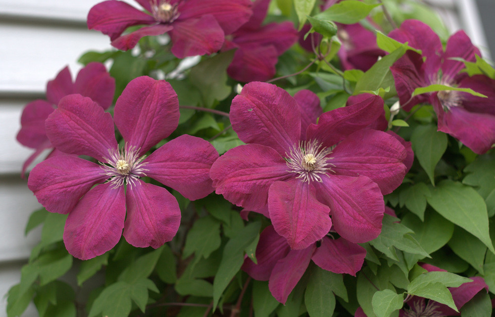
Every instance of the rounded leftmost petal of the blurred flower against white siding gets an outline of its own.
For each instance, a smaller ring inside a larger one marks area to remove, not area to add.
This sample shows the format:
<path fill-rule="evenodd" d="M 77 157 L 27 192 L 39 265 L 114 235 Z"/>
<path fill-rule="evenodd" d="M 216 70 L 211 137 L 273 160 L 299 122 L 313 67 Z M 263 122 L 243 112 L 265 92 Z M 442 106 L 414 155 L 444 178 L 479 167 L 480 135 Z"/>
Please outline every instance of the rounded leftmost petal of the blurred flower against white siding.
<path fill-rule="evenodd" d="M 24 146 L 37 148 L 48 141 L 45 120 L 55 110 L 45 100 L 35 100 L 26 105 L 21 115 L 21 130 L 17 141 Z"/>

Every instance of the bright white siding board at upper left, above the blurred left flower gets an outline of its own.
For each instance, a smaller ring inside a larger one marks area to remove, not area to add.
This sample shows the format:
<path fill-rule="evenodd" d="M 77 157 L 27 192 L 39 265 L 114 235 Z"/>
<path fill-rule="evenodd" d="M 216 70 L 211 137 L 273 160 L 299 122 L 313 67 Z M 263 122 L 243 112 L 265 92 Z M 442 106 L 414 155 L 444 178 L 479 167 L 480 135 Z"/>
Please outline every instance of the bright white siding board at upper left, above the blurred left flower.
<path fill-rule="evenodd" d="M 1 22 L 0 43 L 0 94 L 44 92 L 66 65 L 77 74 L 85 51 L 111 48 L 108 36 L 85 28 Z"/>

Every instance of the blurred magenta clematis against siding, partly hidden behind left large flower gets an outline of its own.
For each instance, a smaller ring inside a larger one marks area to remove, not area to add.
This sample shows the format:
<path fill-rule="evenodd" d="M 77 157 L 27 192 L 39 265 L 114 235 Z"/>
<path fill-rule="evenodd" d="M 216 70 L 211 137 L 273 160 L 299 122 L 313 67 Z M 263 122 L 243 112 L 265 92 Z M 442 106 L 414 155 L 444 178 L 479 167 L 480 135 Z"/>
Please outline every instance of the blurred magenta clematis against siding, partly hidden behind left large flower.
<path fill-rule="evenodd" d="M 113 101 L 115 79 L 101 63 L 92 62 L 82 68 L 72 82 L 69 67 L 62 69 L 55 79 L 47 84 L 47 100 L 38 99 L 28 103 L 21 116 L 21 130 L 17 133 L 17 141 L 36 151 L 24 162 L 22 176 L 28 166 L 46 149 L 53 148 L 45 132 L 45 120 L 55 111 L 60 99 L 68 94 L 80 93 L 92 98 L 103 109 L 107 109 Z M 52 151 L 50 156 L 57 155 Z"/>

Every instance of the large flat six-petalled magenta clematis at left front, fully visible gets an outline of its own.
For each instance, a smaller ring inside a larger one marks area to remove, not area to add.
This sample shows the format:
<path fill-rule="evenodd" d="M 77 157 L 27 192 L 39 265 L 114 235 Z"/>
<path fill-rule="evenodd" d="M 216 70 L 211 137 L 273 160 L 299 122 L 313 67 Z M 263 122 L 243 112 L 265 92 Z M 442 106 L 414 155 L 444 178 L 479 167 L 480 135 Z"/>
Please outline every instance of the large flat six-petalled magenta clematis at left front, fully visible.
<path fill-rule="evenodd" d="M 72 94 L 60 100 L 46 121 L 49 140 L 61 151 L 94 157 L 99 164 L 55 156 L 33 169 L 28 187 L 48 211 L 69 214 L 63 234 L 69 253 L 83 260 L 103 254 L 119 241 L 122 229 L 136 247 L 157 248 L 175 236 L 181 219 L 177 200 L 141 177 L 190 200 L 213 191 L 208 172 L 218 153 L 201 138 L 179 136 L 144 158 L 178 121 L 175 91 L 147 76 L 127 85 L 113 120 L 90 98 Z M 114 122 L 125 141 L 121 149 Z"/>

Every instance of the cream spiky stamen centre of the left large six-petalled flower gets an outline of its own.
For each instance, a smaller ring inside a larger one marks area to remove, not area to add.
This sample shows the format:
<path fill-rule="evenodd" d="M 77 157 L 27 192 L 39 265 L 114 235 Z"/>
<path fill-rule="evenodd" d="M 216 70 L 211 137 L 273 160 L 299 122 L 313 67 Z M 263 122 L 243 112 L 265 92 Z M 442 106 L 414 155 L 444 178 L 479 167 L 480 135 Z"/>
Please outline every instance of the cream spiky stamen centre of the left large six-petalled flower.
<path fill-rule="evenodd" d="M 122 186 L 124 183 L 133 186 L 135 181 L 140 177 L 146 176 L 143 167 L 146 163 L 142 163 L 144 156 L 138 157 L 139 149 L 135 147 L 117 150 L 108 150 L 110 158 L 104 158 L 107 164 L 101 164 L 103 174 L 107 175 L 113 183 L 112 188 Z"/>

